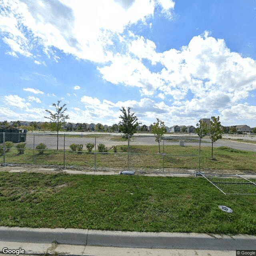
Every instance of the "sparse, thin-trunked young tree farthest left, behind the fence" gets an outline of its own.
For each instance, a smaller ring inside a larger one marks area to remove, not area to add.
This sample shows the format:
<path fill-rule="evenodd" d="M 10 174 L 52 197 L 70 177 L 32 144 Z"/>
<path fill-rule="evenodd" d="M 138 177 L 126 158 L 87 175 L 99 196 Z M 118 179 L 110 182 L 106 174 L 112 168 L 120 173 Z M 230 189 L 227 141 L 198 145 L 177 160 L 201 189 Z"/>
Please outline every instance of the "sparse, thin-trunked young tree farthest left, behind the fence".
<path fill-rule="evenodd" d="M 68 115 L 64 115 L 64 112 L 67 110 L 67 108 L 64 108 L 66 104 L 63 106 L 60 105 L 61 100 L 58 100 L 57 104 L 53 103 L 52 106 L 55 107 L 55 112 L 52 113 L 50 110 L 45 110 L 48 114 L 50 114 L 50 117 L 44 116 L 44 118 L 50 119 L 50 122 L 55 124 L 54 129 L 57 131 L 57 150 L 58 150 L 58 144 L 59 144 L 59 130 L 61 128 L 61 124 L 65 122 L 66 119 L 69 119 Z"/>

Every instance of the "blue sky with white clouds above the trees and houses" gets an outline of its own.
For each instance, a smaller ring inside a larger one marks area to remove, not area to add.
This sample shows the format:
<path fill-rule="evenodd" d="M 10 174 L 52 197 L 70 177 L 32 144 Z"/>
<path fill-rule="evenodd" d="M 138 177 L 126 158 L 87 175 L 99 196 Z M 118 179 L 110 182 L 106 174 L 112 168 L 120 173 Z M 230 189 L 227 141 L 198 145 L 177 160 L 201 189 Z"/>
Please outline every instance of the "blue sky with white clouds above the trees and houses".
<path fill-rule="evenodd" d="M 256 0 L 0 0 L 0 121 L 256 126 Z"/>

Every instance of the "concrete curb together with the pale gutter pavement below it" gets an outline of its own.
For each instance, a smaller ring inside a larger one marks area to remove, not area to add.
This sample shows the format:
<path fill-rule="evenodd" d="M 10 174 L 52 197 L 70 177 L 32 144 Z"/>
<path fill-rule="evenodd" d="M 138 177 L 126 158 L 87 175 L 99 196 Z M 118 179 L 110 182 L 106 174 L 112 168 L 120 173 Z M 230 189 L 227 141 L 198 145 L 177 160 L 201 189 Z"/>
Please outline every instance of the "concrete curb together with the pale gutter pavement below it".
<path fill-rule="evenodd" d="M 236 250 L 255 250 L 256 236 L 0 227 L 0 246 L 0 250 L 22 248 L 30 255 L 126 254 L 120 254 L 120 250 L 129 255 L 148 255 L 150 250 L 153 255 L 235 255 Z M 208 254 L 209 251 L 214 253 Z"/>

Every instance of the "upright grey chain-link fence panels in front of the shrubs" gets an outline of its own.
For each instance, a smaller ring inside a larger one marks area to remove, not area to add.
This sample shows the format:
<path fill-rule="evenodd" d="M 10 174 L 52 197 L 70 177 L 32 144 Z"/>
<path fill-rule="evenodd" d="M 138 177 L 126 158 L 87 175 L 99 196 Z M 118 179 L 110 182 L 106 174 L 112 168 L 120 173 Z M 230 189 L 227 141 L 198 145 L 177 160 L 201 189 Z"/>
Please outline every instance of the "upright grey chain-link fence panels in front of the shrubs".
<path fill-rule="evenodd" d="M 191 137 L 26 134 L 17 143 L 5 132 L 0 138 L 3 164 L 156 172 L 200 166 L 199 140 Z"/>

